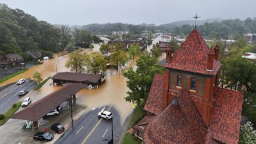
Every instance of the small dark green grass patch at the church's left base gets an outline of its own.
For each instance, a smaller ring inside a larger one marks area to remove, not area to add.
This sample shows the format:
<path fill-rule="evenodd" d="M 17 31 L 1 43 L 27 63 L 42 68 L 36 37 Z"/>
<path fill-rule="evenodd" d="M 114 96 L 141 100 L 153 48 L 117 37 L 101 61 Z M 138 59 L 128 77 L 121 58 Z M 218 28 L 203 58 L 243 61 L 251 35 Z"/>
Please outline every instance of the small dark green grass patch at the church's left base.
<path fill-rule="evenodd" d="M 131 121 L 129 123 L 129 126 L 134 126 L 141 118 L 146 115 L 146 111 L 143 110 L 142 107 L 137 106 L 133 111 L 133 116 L 131 117 Z"/>

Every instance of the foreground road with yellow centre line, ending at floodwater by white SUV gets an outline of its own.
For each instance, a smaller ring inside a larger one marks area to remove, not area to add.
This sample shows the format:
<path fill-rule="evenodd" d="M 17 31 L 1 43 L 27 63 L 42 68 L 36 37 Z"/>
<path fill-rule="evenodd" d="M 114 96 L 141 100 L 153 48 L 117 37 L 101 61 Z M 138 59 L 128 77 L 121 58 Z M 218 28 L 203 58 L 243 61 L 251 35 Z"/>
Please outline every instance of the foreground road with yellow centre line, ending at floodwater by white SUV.
<path fill-rule="evenodd" d="M 72 144 L 72 143 L 102 143 L 107 137 L 112 136 L 111 120 L 98 118 L 98 112 L 104 107 L 95 108 L 77 120 L 74 126 L 70 127 L 55 143 Z M 111 111 L 114 115 L 113 130 L 114 139 L 121 130 L 119 114 L 113 106 L 106 106 L 105 110 Z"/>

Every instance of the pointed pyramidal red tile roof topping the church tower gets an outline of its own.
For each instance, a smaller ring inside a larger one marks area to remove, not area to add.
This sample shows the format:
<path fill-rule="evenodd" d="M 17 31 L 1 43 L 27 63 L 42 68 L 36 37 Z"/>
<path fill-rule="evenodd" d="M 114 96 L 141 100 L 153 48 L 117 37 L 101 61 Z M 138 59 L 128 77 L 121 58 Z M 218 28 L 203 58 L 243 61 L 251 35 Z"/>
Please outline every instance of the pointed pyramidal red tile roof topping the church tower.
<path fill-rule="evenodd" d="M 163 66 L 205 75 L 216 75 L 220 67 L 220 63 L 216 60 L 213 60 L 213 71 L 206 70 L 208 52 L 208 46 L 198 29 L 195 28 L 186 41 L 179 46 L 171 63 L 165 63 Z"/>

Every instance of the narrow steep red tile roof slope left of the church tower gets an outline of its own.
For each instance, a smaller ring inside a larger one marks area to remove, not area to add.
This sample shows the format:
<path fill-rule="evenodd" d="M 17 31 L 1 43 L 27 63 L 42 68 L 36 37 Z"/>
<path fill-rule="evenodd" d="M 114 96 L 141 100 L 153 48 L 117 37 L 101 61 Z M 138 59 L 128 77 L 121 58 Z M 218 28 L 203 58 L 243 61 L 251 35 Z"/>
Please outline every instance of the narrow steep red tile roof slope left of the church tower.
<path fill-rule="evenodd" d="M 161 113 L 163 109 L 162 108 L 163 81 L 164 81 L 163 75 L 156 73 L 154 80 L 152 82 L 150 93 L 148 94 L 146 105 L 144 106 L 145 111 L 148 111 L 155 115 L 158 115 Z"/>

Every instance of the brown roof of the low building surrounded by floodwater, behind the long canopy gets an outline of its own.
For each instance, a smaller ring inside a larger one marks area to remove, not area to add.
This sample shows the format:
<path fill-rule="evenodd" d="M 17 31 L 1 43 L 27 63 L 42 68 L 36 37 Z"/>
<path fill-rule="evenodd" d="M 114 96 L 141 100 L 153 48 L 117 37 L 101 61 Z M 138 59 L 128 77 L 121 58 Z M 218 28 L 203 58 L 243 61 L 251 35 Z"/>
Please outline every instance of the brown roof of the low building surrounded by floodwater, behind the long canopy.
<path fill-rule="evenodd" d="M 89 74 L 89 73 L 57 73 L 51 79 L 62 80 L 62 81 L 75 81 L 75 82 L 92 82 L 96 83 L 100 80 L 100 74 Z"/>

